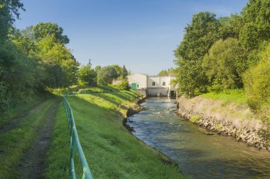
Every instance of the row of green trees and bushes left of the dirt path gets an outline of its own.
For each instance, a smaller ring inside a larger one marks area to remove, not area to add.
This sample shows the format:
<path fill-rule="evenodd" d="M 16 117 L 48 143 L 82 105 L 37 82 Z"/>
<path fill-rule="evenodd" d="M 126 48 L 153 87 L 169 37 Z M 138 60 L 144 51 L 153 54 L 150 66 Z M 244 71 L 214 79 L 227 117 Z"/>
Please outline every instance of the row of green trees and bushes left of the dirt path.
<path fill-rule="evenodd" d="M 0 112 L 37 100 L 48 89 L 77 83 L 107 85 L 126 79 L 126 67 L 81 66 L 65 45 L 70 41 L 56 23 L 18 30 L 13 23 L 25 11 L 19 0 L 0 1 Z M 80 67 L 80 68 L 79 68 Z"/>

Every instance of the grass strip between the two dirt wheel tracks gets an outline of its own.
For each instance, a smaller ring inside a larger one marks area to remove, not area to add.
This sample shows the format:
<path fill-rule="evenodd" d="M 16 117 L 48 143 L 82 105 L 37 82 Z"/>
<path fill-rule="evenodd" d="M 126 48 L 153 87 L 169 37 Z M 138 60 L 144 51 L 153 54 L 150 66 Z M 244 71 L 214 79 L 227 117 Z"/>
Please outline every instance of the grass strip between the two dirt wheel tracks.
<path fill-rule="evenodd" d="M 0 136 L 0 178 L 17 178 L 17 166 L 21 162 L 23 152 L 36 139 L 36 132 L 45 122 L 50 106 L 57 98 L 51 98 L 38 105 L 37 108 L 23 117 L 20 124 Z"/>

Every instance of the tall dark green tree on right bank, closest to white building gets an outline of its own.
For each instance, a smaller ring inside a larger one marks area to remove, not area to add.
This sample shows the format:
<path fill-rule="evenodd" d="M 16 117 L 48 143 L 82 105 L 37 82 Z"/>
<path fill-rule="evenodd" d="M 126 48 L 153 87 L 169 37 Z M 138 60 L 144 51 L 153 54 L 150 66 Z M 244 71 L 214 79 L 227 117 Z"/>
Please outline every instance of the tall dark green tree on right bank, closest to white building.
<path fill-rule="evenodd" d="M 200 12 L 193 16 L 192 23 L 185 28 L 183 41 L 174 51 L 176 78 L 180 90 L 188 96 L 207 91 L 207 77 L 202 69 L 202 59 L 212 44 L 220 37 L 220 22 L 214 13 Z"/>

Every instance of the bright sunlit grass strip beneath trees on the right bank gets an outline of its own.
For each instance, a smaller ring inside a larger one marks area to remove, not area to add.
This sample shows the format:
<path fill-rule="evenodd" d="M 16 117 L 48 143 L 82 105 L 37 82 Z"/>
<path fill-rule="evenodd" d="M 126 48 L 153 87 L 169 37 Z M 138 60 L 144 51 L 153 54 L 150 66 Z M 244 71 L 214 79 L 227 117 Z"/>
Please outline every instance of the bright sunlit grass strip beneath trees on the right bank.
<path fill-rule="evenodd" d="M 244 89 L 231 89 L 226 91 L 210 92 L 201 95 L 205 98 L 210 98 L 212 100 L 222 100 L 224 103 L 247 103 L 247 96 L 244 93 Z"/>

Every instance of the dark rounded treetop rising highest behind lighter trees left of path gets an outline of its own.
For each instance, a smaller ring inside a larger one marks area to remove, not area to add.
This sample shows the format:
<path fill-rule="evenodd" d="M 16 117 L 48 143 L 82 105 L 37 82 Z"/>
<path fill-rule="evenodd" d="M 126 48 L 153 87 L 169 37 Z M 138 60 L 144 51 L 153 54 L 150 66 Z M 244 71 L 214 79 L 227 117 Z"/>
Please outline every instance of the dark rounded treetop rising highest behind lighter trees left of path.
<path fill-rule="evenodd" d="M 63 35 L 63 28 L 57 23 L 38 23 L 33 27 L 33 32 L 36 40 L 42 40 L 48 35 L 55 37 L 55 42 L 68 44 L 70 40 L 67 35 Z"/>

